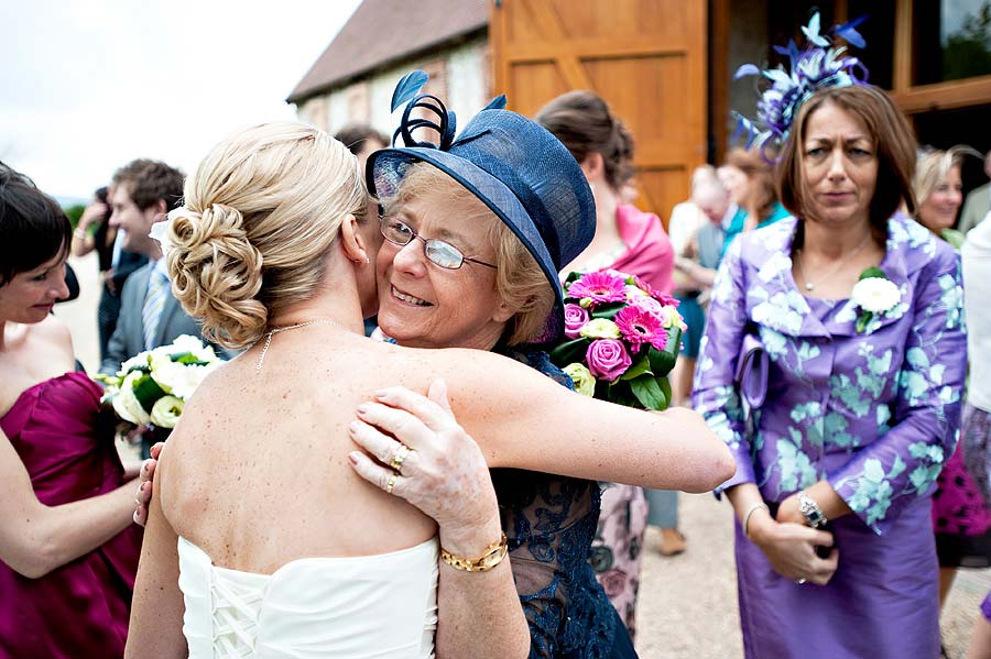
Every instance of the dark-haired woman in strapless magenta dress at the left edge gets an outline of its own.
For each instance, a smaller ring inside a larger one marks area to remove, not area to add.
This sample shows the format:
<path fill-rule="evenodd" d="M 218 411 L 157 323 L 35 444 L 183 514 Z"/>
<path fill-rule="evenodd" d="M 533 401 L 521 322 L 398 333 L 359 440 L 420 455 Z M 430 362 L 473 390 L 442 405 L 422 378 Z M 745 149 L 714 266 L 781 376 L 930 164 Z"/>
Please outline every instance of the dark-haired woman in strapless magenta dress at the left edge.
<path fill-rule="evenodd" d="M 0 164 L 0 657 L 120 657 L 127 637 L 135 485 L 50 315 L 70 235 L 58 205 Z"/>

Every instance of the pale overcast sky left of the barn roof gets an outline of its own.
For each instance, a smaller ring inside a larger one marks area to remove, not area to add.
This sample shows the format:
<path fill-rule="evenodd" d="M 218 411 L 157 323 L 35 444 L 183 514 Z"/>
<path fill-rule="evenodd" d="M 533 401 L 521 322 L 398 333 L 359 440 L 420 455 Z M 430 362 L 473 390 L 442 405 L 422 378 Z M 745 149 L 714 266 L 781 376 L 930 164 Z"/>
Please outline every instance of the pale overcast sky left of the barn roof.
<path fill-rule="evenodd" d="M 189 173 L 285 103 L 360 0 L 0 0 L 0 160 L 88 197 L 135 157 Z"/>

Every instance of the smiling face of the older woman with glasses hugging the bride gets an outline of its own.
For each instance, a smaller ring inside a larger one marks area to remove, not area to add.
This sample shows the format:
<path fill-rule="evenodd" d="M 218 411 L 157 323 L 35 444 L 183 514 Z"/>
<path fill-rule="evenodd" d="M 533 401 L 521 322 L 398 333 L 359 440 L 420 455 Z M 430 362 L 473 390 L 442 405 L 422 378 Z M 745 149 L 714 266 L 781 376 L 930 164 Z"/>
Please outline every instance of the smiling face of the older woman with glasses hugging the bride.
<path fill-rule="evenodd" d="M 443 240 L 465 256 L 494 263 L 487 222 L 499 219 L 466 215 L 444 190 L 391 205 L 386 215 L 424 240 Z M 379 327 L 401 345 L 490 350 L 512 317 L 497 294 L 494 270 L 470 261 L 457 270 L 442 267 L 426 257 L 420 239 L 404 246 L 383 241 L 377 275 Z"/>

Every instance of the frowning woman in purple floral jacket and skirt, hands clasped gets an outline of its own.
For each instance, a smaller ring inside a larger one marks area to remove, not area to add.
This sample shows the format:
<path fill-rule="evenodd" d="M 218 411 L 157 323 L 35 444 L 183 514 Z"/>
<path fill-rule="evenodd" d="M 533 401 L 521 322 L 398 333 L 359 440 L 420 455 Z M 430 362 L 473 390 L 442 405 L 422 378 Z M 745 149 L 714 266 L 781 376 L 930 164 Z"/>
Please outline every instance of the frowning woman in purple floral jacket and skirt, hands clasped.
<path fill-rule="evenodd" d="M 695 405 L 737 458 L 721 490 L 748 657 L 939 652 L 930 495 L 967 358 L 959 259 L 896 213 L 914 207 L 914 161 L 883 91 L 820 89 L 778 166 L 795 218 L 720 267 Z M 753 347 L 765 391 L 747 367 L 736 382 Z"/>

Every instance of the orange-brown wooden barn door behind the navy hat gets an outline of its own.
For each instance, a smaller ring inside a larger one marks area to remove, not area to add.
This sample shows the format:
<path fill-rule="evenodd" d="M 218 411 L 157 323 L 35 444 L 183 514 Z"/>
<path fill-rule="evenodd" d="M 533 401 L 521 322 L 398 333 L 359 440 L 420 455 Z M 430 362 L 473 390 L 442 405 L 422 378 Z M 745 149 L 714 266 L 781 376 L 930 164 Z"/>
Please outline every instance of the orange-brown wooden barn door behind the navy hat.
<path fill-rule="evenodd" d="M 661 216 L 706 161 L 707 2 L 492 0 L 493 92 L 533 117 L 559 94 L 591 89 L 635 139 L 635 204 Z"/>

